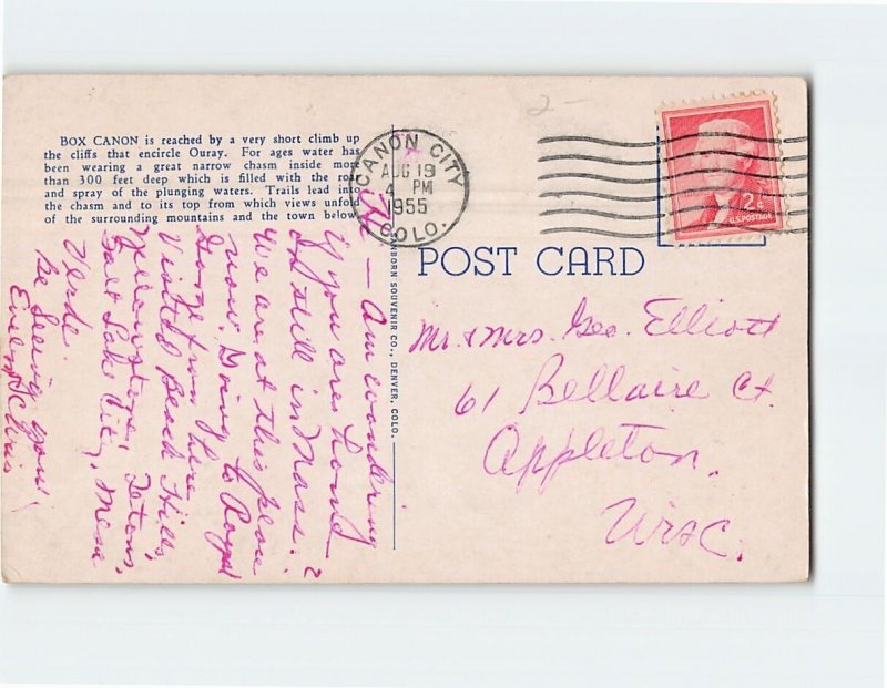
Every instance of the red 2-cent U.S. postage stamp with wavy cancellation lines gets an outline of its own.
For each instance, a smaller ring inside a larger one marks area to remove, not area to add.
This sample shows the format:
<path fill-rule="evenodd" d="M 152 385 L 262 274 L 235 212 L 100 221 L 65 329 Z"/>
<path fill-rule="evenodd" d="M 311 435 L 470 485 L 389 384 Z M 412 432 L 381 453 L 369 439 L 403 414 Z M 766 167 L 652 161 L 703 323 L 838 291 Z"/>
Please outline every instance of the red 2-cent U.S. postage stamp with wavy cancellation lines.
<path fill-rule="evenodd" d="M 751 96 L 662 111 L 665 178 L 679 242 L 782 229 L 772 102 Z"/>

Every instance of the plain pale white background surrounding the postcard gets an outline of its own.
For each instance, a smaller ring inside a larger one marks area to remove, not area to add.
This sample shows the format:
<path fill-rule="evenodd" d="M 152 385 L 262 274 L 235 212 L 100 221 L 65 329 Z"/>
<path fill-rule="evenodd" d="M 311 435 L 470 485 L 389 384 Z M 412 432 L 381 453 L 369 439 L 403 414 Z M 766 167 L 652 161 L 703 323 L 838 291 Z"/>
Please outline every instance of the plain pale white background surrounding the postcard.
<path fill-rule="evenodd" d="M 778 586 L 3 585 L 0 681 L 881 685 L 887 10 L 20 0 L 4 33 L 6 73 L 806 76 L 814 564 Z"/>

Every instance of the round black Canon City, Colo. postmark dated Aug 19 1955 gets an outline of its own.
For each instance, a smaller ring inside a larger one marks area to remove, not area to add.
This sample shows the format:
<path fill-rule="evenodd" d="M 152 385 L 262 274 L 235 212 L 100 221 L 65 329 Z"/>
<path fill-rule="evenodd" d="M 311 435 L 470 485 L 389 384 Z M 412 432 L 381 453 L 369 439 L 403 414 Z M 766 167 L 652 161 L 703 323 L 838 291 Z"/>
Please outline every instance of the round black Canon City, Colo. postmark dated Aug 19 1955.
<path fill-rule="evenodd" d="M 360 228 L 398 247 L 449 234 L 468 205 L 468 168 L 441 136 L 392 129 L 370 141 L 351 170 L 349 194 Z"/>

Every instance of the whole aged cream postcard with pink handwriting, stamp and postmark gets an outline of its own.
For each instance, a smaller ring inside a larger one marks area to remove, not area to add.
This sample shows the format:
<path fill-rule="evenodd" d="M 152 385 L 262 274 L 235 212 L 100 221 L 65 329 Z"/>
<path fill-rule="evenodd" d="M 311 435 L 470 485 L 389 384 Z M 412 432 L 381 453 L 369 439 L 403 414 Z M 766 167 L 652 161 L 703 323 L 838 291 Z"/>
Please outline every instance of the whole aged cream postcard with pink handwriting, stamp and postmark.
<path fill-rule="evenodd" d="M 9 582 L 798 581 L 798 79 L 11 76 Z"/>

